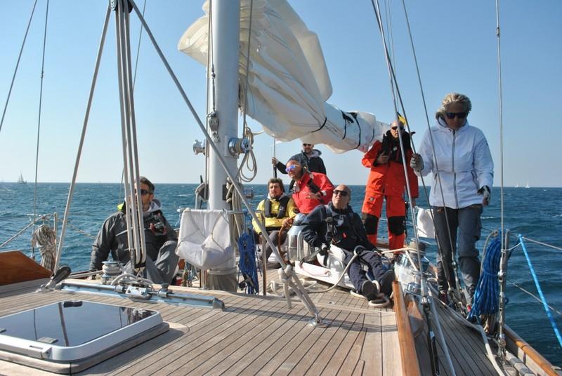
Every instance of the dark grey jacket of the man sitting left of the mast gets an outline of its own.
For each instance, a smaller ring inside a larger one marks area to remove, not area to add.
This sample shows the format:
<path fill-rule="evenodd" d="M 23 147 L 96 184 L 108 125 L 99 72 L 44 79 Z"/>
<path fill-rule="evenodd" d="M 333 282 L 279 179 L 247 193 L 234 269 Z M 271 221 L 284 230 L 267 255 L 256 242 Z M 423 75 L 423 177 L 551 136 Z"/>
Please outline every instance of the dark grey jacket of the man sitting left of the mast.
<path fill-rule="evenodd" d="M 159 207 L 159 201 L 153 200 Z M 177 241 L 176 231 L 170 226 L 162 210 L 153 210 L 143 213 L 145 227 L 145 243 L 147 256 L 156 260 L 160 248 L 166 241 Z M 90 257 L 90 270 L 101 270 L 102 262 L 107 260 L 111 253 L 114 261 L 126 264 L 131 260 L 127 251 L 127 232 L 124 208 L 108 217 L 98 232 L 96 241 L 93 242 Z"/>

